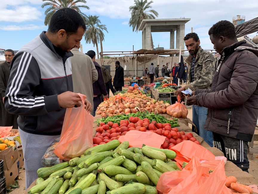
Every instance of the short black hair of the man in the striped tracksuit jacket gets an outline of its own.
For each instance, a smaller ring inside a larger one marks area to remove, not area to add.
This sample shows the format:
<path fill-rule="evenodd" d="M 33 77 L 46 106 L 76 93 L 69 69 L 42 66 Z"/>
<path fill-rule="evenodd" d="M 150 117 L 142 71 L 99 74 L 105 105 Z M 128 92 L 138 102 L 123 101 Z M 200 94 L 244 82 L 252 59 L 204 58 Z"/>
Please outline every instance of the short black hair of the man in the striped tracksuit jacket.
<path fill-rule="evenodd" d="M 86 30 L 85 22 L 82 16 L 71 8 L 62 8 L 57 10 L 50 19 L 48 25 L 48 31 L 56 33 L 61 29 L 64 29 L 68 35 L 77 32 L 78 28 L 82 27 Z"/>

